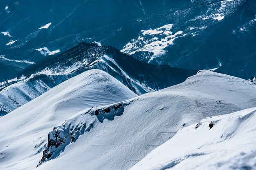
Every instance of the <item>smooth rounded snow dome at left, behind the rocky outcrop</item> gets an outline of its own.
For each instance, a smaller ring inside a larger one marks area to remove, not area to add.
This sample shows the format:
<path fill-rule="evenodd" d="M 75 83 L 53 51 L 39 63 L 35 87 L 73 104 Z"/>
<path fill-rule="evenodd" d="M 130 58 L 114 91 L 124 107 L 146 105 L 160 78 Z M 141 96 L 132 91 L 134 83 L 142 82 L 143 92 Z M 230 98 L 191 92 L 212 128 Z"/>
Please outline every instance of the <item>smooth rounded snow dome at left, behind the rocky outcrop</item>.
<path fill-rule="evenodd" d="M 0 118 L 0 169 L 13 169 L 15 162 L 26 162 L 27 165 L 20 164 L 14 169 L 34 167 L 33 164 L 41 158 L 38 153 L 47 143 L 47 133 L 54 126 L 61 125 L 65 119 L 85 108 L 135 96 L 115 78 L 97 69 L 83 72 L 53 87 Z"/>

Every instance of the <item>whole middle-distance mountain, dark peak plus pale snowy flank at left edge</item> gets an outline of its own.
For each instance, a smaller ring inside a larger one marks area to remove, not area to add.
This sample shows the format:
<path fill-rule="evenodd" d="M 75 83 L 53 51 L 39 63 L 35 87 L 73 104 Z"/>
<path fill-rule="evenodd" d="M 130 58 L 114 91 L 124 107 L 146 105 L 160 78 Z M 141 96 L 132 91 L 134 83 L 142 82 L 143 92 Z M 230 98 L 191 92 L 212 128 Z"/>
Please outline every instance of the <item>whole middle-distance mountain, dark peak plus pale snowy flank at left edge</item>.
<path fill-rule="evenodd" d="M 28 67 L 18 78 L 0 83 L 0 115 L 7 114 L 63 81 L 89 69 L 101 69 L 137 94 L 176 85 L 193 70 L 150 65 L 113 47 L 84 42 Z"/>

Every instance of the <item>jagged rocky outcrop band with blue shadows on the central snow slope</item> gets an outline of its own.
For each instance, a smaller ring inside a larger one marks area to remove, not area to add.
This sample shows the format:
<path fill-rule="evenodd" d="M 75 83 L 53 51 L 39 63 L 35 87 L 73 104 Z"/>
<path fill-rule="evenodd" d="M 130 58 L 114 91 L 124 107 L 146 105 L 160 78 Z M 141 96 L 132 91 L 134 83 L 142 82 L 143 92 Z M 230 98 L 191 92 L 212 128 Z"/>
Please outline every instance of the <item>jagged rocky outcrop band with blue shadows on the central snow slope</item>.
<path fill-rule="evenodd" d="M 58 157 L 67 145 L 76 142 L 81 134 L 89 132 L 98 123 L 103 123 L 105 119 L 112 121 L 115 116 L 121 116 L 124 113 L 124 105 L 128 105 L 128 102 L 85 109 L 65 121 L 61 126 L 55 127 L 48 134 L 47 148 L 43 151 L 43 157 L 38 166 Z"/>

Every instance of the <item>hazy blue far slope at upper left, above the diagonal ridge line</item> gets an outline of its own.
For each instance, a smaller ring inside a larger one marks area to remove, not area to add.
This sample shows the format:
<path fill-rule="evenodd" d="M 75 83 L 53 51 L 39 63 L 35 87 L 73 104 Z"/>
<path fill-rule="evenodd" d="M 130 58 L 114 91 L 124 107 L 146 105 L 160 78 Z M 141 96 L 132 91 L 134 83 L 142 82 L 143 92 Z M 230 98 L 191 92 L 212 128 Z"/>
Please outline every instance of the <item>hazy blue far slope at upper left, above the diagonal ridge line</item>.
<path fill-rule="evenodd" d="M 65 51 L 83 40 L 93 42 L 97 32 L 90 37 L 79 35 L 85 31 L 188 4 L 190 0 L 63 0 L 61 4 L 51 0 L 1 1 L 0 53 L 10 59 L 38 61 L 44 54 L 36 49 Z M 6 45 L 10 41 L 15 42 Z"/>

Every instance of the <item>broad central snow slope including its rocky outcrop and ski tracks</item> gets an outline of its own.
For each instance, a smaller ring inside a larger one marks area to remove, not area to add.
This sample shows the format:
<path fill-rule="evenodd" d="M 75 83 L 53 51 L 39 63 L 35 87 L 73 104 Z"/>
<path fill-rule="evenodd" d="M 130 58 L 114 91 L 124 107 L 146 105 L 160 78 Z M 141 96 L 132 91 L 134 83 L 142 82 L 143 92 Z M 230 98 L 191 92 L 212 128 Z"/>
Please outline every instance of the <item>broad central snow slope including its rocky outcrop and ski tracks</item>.
<path fill-rule="evenodd" d="M 249 81 L 203 70 L 179 85 L 83 110 L 49 133 L 37 169 L 131 168 L 184 126 L 255 107 L 255 89 Z"/>

